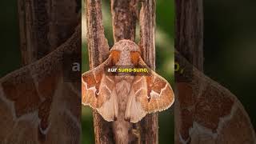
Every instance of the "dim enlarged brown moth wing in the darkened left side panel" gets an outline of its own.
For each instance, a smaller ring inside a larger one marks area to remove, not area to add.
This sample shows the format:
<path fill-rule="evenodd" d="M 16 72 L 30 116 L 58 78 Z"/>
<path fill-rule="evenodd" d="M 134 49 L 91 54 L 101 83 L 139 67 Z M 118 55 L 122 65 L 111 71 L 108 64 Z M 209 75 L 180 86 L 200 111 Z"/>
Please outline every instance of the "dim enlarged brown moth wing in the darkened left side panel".
<path fill-rule="evenodd" d="M 0 78 L 0 143 L 65 144 L 69 143 L 66 138 L 79 142 L 80 90 L 62 81 L 56 65 L 56 69 L 47 67 L 53 62 L 60 64 L 48 59 L 42 58 Z"/>

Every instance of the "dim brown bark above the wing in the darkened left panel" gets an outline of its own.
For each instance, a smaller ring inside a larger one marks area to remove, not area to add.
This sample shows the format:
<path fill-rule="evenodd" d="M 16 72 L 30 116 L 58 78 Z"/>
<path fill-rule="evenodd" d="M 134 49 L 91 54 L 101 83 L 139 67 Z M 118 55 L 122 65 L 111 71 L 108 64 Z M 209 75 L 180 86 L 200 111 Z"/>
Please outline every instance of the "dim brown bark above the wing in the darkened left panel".
<path fill-rule="evenodd" d="M 70 38 L 80 22 L 80 6 L 77 0 L 18 0 L 23 65 L 43 58 Z"/>

